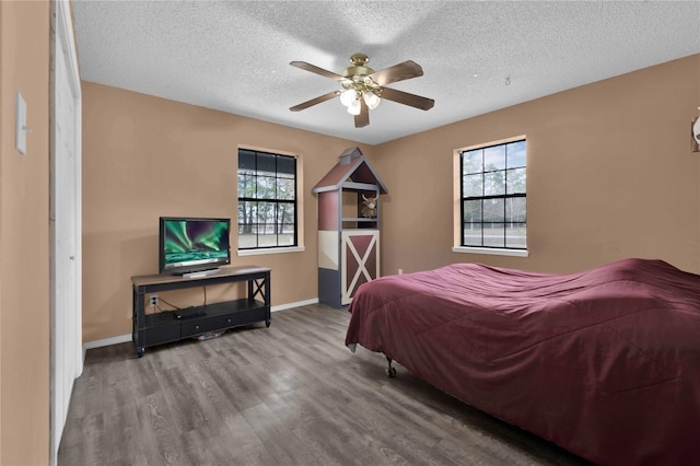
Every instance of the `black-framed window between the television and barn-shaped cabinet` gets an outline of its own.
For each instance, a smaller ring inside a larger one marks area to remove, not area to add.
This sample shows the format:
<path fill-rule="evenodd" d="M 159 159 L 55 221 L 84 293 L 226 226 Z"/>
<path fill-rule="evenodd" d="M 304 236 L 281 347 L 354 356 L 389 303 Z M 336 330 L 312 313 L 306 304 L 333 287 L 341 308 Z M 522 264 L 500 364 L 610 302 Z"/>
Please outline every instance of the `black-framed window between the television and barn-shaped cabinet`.
<path fill-rule="evenodd" d="M 298 246 L 296 158 L 238 149 L 238 249 Z"/>

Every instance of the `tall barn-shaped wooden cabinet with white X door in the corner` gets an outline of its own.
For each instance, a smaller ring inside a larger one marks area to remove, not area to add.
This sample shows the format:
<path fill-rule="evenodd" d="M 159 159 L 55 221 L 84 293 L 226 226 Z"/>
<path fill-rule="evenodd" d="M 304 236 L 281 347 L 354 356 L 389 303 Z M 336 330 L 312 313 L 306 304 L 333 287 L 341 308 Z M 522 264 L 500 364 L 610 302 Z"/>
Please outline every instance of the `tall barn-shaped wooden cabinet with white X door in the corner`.
<path fill-rule="evenodd" d="M 380 195 L 388 193 L 359 148 L 350 148 L 313 193 L 318 198 L 318 301 L 350 304 L 380 276 Z M 374 202 L 372 202 L 374 200 Z"/>

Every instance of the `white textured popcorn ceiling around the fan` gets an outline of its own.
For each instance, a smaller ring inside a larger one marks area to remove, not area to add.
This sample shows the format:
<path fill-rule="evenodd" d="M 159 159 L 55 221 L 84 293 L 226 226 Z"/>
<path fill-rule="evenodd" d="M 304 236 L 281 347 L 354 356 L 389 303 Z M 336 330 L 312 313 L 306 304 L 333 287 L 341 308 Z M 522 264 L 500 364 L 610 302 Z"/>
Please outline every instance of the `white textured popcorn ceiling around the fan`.
<path fill-rule="evenodd" d="M 699 0 L 72 5 L 86 81 L 369 144 L 700 53 Z M 338 89 L 290 61 L 340 73 L 354 53 L 377 71 L 418 62 L 423 77 L 389 86 L 435 106 L 385 101 L 365 128 L 337 100 L 289 110 Z"/>

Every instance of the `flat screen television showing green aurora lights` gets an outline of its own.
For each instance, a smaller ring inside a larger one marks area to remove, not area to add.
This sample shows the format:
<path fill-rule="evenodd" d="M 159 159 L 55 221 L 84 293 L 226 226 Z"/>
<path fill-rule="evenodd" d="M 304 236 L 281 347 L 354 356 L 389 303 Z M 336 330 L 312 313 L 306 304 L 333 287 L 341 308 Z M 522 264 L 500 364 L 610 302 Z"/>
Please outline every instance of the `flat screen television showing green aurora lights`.
<path fill-rule="evenodd" d="M 161 217 L 160 273 L 183 275 L 231 264 L 231 219 Z"/>

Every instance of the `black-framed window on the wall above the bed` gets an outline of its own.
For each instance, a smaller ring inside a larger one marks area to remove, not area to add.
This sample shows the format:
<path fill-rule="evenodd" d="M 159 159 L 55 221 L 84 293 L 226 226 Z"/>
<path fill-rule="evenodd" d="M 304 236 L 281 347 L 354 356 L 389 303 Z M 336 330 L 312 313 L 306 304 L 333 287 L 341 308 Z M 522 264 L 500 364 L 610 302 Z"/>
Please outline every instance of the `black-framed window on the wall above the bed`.
<path fill-rule="evenodd" d="M 526 141 L 459 153 L 460 246 L 525 249 Z"/>

